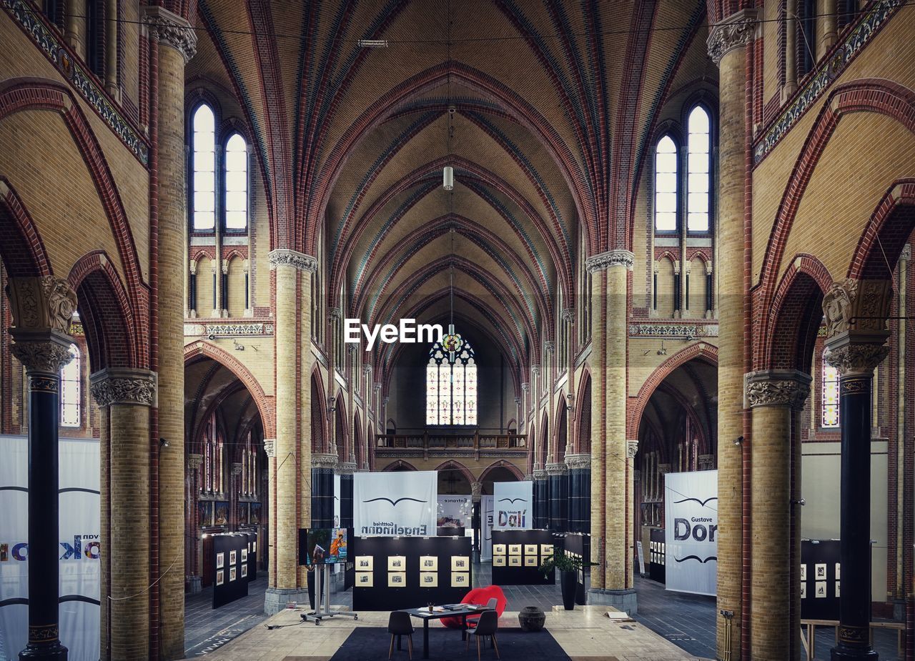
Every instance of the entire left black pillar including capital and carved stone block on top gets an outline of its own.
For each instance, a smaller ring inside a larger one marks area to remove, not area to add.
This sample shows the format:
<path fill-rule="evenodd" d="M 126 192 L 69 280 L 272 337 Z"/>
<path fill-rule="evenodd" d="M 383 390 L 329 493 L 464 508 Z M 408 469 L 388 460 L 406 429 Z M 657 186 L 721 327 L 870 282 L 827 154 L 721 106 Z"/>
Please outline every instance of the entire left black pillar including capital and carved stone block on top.
<path fill-rule="evenodd" d="M 10 350 L 26 368 L 28 390 L 28 642 L 19 659 L 66 661 L 59 638 L 60 369 L 70 355 L 76 293 L 54 276 L 10 278 Z"/>

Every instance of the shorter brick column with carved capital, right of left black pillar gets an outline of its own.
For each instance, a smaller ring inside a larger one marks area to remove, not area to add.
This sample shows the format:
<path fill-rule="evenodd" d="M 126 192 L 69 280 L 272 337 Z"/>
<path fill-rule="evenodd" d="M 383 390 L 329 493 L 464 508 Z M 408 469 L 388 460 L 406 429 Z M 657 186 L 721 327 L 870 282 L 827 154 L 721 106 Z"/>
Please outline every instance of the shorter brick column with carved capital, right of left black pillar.
<path fill-rule="evenodd" d="M 150 538 L 145 534 L 150 527 L 149 418 L 156 406 L 156 373 L 108 368 L 95 372 L 90 380 L 92 399 L 108 419 L 108 465 L 102 471 L 109 475 L 110 494 L 102 502 L 108 531 L 102 539 L 102 558 L 110 568 L 106 592 L 111 600 L 103 618 L 110 638 L 107 649 L 102 647 L 102 657 L 145 658 L 151 636 L 151 581 L 149 563 L 144 561 L 150 557 Z M 173 451 L 170 445 L 163 452 Z M 183 516 L 180 531 L 183 544 Z M 177 573 L 181 576 L 180 570 Z"/>

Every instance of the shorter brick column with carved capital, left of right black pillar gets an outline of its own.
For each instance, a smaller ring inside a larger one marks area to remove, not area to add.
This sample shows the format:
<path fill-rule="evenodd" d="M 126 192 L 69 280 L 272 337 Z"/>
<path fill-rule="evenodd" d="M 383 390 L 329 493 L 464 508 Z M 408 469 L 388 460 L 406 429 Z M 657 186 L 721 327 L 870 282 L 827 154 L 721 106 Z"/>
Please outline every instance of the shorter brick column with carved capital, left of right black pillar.
<path fill-rule="evenodd" d="M 791 433 L 794 412 L 803 409 L 810 382 L 809 375 L 797 371 L 747 375 L 747 404 L 753 410 L 750 648 L 756 661 L 797 658 L 800 649 L 801 613 L 792 608 L 791 563 L 799 560 L 791 553 L 791 515 L 799 531 L 800 512 L 791 502 Z"/>

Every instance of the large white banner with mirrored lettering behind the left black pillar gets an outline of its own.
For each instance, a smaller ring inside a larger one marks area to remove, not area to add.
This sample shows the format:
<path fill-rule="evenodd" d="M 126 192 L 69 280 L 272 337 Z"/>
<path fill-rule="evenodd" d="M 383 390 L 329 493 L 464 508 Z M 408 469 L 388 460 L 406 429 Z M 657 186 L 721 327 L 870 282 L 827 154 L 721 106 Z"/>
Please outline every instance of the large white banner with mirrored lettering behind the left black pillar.
<path fill-rule="evenodd" d="M 0 660 L 28 634 L 28 441 L 0 436 Z M 60 439 L 60 642 L 99 658 L 99 442 Z"/>

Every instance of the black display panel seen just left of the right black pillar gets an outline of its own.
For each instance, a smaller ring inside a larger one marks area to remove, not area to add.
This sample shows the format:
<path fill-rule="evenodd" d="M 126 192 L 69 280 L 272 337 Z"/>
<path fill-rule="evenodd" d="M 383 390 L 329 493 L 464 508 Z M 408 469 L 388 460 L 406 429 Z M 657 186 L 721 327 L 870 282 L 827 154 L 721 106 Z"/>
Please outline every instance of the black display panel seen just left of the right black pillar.
<path fill-rule="evenodd" d="M 838 620 L 842 568 L 838 539 L 801 540 L 801 617 Z"/>

